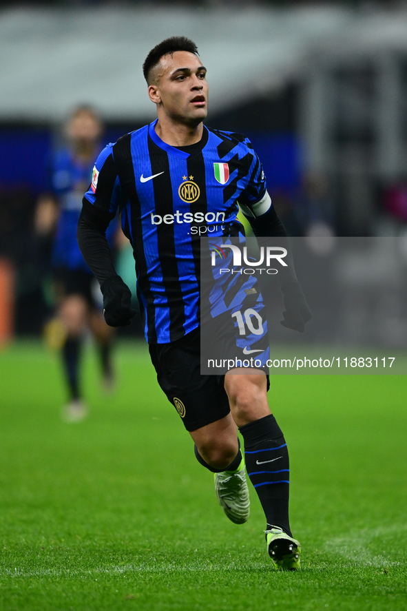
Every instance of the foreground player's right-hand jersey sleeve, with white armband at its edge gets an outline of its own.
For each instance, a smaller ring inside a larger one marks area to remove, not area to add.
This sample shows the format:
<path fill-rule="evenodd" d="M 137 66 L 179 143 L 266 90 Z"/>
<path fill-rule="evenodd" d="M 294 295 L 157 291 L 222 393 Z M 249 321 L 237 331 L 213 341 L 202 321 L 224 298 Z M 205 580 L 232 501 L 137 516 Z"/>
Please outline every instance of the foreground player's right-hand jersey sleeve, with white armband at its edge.
<path fill-rule="evenodd" d="M 264 176 L 262 164 L 254 151 L 247 176 L 249 176 L 247 187 L 240 194 L 238 203 L 244 216 L 249 219 L 257 218 L 269 211 L 271 198 L 267 193 L 266 176 Z"/>

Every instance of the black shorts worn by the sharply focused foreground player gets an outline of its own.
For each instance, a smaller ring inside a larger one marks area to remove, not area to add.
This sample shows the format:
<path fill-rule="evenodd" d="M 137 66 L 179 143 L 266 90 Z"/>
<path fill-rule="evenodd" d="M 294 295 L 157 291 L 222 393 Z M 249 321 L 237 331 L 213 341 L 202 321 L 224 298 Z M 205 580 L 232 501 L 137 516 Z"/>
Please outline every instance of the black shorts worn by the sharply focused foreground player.
<path fill-rule="evenodd" d="M 228 415 L 223 375 L 200 375 L 200 329 L 170 344 L 149 344 L 158 384 L 167 395 L 187 431 Z"/>

